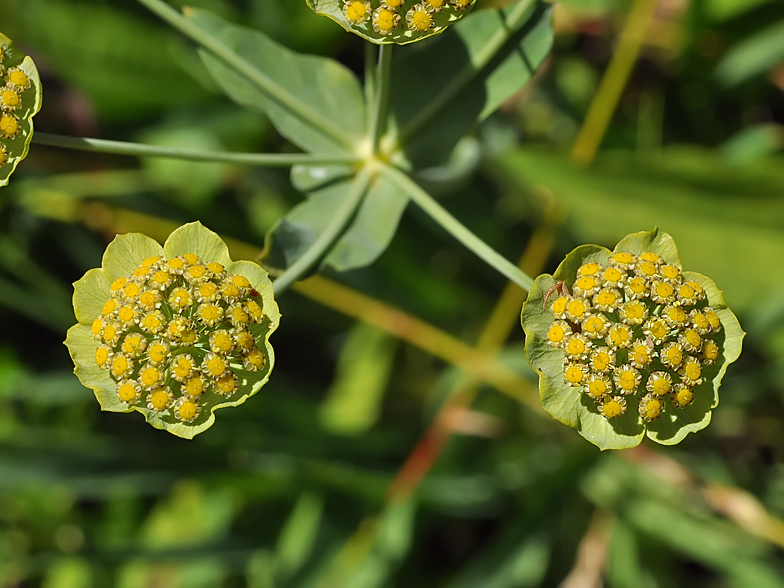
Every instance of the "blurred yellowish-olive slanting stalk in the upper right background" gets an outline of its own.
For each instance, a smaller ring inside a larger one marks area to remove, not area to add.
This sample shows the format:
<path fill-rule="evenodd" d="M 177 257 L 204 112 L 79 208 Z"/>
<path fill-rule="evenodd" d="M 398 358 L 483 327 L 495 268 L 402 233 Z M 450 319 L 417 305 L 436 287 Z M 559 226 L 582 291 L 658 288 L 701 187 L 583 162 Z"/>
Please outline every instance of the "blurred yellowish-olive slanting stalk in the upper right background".
<path fill-rule="evenodd" d="M 572 145 L 571 156 L 575 163 L 588 165 L 596 157 L 623 89 L 640 55 L 640 49 L 645 42 L 645 32 L 657 5 L 657 0 L 636 0 L 632 6 L 610 65 L 607 66 L 599 89 L 588 107 L 583 126 Z"/>

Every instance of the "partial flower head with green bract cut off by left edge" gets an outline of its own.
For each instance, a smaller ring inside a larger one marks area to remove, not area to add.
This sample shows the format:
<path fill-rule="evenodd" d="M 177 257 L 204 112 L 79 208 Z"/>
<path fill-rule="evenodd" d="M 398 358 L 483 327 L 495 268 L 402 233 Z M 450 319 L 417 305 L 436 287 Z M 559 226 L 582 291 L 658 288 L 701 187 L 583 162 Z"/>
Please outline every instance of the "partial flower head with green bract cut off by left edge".
<path fill-rule="evenodd" d="M 41 79 L 33 60 L 0 33 L 0 186 L 27 156 L 40 109 Z"/>

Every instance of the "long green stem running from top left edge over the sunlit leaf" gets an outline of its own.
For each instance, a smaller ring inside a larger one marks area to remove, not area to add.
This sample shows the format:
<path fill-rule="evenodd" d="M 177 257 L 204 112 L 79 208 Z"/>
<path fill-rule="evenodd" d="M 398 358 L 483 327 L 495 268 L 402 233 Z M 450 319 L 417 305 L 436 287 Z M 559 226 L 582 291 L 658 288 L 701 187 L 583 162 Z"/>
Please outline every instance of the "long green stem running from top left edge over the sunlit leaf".
<path fill-rule="evenodd" d="M 250 82 L 256 85 L 259 90 L 283 108 L 303 119 L 308 124 L 321 131 L 325 136 L 336 141 L 339 145 L 342 145 L 349 150 L 354 149 L 355 145 L 346 137 L 343 129 L 333 124 L 329 118 L 312 110 L 307 104 L 302 102 L 298 96 L 292 94 L 286 90 L 286 88 L 281 87 L 275 80 L 240 57 L 228 45 L 225 45 L 201 27 L 191 22 L 191 20 L 177 12 L 163 0 L 138 1 L 181 33 L 190 37 L 205 49 L 212 51 L 227 65 L 243 74 Z"/>

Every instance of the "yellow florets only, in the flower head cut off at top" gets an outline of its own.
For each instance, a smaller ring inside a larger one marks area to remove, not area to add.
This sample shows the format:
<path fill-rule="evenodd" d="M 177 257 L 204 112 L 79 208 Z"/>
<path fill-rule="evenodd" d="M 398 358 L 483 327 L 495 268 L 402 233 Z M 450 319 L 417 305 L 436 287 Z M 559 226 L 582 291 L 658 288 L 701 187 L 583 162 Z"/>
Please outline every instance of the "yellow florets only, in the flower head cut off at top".
<path fill-rule="evenodd" d="M 423 0 L 406 10 L 407 3 L 407 0 L 380 0 L 374 8 L 368 0 L 344 0 L 343 15 L 354 26 L 370 22 L 379 35 L 391 35 L 399 30 L 401 22 L 415 33 L 425 33 L 434 28 L 436 13 L 445 8 L 462 12 L 468 9 L 471 0 Z"/>

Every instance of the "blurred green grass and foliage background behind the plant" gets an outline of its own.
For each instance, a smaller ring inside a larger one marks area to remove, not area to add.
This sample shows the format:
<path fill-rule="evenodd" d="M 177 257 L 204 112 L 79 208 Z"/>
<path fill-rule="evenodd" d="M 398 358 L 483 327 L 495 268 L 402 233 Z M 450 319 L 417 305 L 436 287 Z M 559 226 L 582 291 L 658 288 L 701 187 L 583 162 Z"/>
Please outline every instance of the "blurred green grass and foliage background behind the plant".
<path fill-rule="evenodd" d="M 361 41 L 304 0 L 191 4 L 363 70 Z M 33 144 L 0 192 L 0 587 L 784 586 L 784 3 L 649 4 L 590 165 L 571 151 L 609 103 L 626 0 L 564 0 L 552 56 L 461 144 L 462 173 L 420 180 L 534 272 L 581 243 L 671 233 L 748 332 L 708 429 L 601 454 L 490 386 L 439 411 L 466 385 L 454 366 L 294 291 L 272 381 L 194 441 L 101 413 L 62 340 L 70 284 L 113 235 L 200 219 L 260 249 L 301 195 L 282 170 Z M 3 0 L 0 30 L 39 67 L 41 131 L 292 150 L 132 0 Z M 409 209 L 377 263 L 331 278 L 390 324 L 394 307 L 474 345 L 503 278 L 431 229 Z M 522 339 L 499 357 L 530 398 Z M 418 446 L 437 414 L 446 433 Z M 419 484 L 404 463 L 433 468 Z"/>

